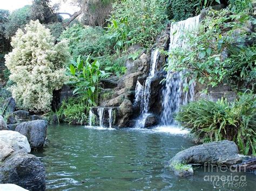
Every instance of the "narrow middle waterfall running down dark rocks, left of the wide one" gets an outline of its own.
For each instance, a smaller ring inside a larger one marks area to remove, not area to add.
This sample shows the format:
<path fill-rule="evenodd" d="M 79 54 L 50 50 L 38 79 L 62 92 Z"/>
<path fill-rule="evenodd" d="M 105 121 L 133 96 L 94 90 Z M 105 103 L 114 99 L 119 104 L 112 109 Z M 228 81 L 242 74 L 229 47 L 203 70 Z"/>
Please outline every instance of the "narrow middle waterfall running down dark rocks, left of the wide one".
<path fill-rule="evenodd" d="M 150 62 L 150 72 L 149 72 L 149 76 L 146 78 L 145 82 L 144 82 L 144 86 L 142 86 L 139 82 L 137 82 L 138 84 L 138 89 L 137 90 L 137 95 L 135 96 L 135 101 L 134 103 L 136 103 L 136 101 L 138 102 L 138 100 L 136 100 L 137 96 L 141 96 L 140 100 L 141 100 L 141 105 L 140 105 L 140 117 L 138 118 L 137 122 L 136 122 L 136 128 L 144 128 L 144 124 L 146 121 L 146 117 L 149 116 L 149 101 L 150 101 L 150 94 L 151 94 L 151 81 L 152 78 L 154 77 L 154 74 L 157 71 L 157 61 L 159 58 L 159 50 L 158 49 L 154 49 L 151 53 L 151 62 Z M 139 86 L 140 85 L 140 86 Z M 140 91 L 140 92 L 139 92 Z"/>

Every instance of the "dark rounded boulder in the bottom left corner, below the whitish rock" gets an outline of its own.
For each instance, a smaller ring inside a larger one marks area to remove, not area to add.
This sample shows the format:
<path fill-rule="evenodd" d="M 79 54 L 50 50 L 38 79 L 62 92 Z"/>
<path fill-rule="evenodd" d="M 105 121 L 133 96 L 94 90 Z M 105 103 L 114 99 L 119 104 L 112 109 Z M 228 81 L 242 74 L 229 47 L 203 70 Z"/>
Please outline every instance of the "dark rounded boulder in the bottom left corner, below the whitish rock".
<path fill-rule="evenodd" d="M 29 190 L 45 190 L 45 168 L 34 155 L 12 153 L 0 168 L 0 183 L 13 183 Z"/>

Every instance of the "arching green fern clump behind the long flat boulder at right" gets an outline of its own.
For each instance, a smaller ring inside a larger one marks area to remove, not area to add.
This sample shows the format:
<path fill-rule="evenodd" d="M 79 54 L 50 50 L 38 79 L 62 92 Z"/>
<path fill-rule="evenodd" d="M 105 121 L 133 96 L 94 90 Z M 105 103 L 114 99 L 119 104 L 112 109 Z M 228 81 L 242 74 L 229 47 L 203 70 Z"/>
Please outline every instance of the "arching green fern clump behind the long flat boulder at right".
<path fill-rule="evenodd" d="M 226 100 L 199 100 L 181 107 L 176 120 L 203 143 L 232 140 L 241 153 L 255 155 L 255 105 L 256 95 L 252 93 L 242 94 L 231 104 Z"/>

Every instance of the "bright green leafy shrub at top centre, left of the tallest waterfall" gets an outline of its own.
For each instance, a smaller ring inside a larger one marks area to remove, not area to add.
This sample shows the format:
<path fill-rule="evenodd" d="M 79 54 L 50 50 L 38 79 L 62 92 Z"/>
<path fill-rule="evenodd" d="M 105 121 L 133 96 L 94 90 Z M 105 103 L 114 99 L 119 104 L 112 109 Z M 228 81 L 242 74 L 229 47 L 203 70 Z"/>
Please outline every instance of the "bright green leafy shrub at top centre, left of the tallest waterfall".
<path fill-rule="evenodd" d="M 107 27 L 109 39 L 114 41 L 114 48 L 120 52 L 133 44 L 150 47 L 165 27 L 166 4 L 164 0 L 127 0 L 114 3 Z"/>

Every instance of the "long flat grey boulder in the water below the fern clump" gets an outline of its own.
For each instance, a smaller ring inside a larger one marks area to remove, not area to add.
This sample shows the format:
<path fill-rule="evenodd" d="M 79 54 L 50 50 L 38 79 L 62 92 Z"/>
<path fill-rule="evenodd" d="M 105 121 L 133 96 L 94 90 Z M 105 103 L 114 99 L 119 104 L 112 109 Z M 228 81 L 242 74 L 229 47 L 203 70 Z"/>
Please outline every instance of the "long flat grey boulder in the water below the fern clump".
<path fill-rule="evenodd" d="M 193 174 L 192 168 L 176 168 L 186 164 L 234 165 L 242 160 L 238 155 L 238 146 L 229 140 L 192 146 L 177 153 L 170 165 L 175 174 L 181 176 Z M 185 172 L 186 171 L 186 172 Z"/>

